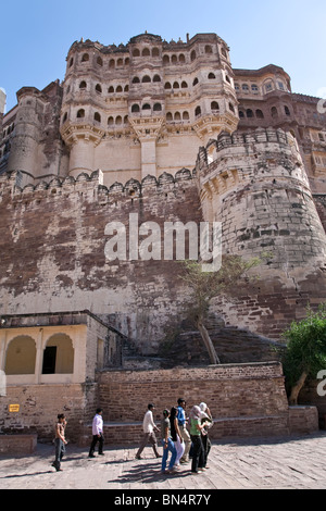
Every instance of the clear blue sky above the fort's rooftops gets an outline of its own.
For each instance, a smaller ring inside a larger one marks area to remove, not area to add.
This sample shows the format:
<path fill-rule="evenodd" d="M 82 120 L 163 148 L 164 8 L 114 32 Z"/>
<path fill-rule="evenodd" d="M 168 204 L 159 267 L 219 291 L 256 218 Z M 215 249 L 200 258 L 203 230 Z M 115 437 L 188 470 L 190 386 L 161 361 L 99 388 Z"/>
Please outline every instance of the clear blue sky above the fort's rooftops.
<path fill-rule="evenodd" d="M 216 33 L 234 67 L 283 66 L 294 92 L 326 90 L 326 0 L 16 0 L 0 4 L 0 88 L 7 111 L 23 86 L 64 79 L 75 40 L 127 43 L 145 30 L 186 40 Z M 324 96 L 323 96 L 324 97 Z"/>

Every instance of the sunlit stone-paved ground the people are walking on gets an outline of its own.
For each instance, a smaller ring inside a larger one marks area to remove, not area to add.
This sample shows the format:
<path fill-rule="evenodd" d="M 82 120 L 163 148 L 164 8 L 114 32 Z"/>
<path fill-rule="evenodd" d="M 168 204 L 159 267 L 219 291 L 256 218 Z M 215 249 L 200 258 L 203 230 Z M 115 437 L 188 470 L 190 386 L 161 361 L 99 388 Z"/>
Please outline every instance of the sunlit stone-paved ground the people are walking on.
<path fill-rule="evenodd" d="M 326 432 L 316 435 L 213 443 L 210 469 L 191 475 L 190 464 L 177 475 L 160 474 L 150 447 L 135 460 L 137 446 L 108 448 L 88 459 L 87 449 L 67 446 L 63 472 L 51 468 L 53 446 L 37 446 L 33 456 L 0 457 L 0 489 L 324 489 Z"/>

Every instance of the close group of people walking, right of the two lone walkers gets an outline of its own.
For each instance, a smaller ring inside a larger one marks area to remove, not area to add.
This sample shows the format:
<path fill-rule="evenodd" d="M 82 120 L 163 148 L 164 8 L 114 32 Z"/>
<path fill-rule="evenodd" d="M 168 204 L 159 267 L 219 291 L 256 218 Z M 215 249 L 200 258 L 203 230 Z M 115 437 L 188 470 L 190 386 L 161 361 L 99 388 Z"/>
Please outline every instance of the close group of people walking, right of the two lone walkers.
<path fill-rule="evenodd" d="M 155 432 L 160 432 L 153 420 L 154 404 L 148 406 L 148 411 L 143 417 L 143 437 L 140 443 L 136 459 L 141 459 L 141 452 L 148 444 L 151 444 L 156 458 L 161 458 L 158 450 Z M 191 472 L 199 474 L 208 469 L 208 454 L 211 449 L 211 441 L 208 429 L 213 424 L 209 407 L 201 402 L 193 406 L 189 415 L 190 431 L 187 428 L 188 417 L 186 416 L 186 401 L 179 398 L 176 407 L 171 410 L 163 410 L 161 421 L 161 444 L 163 446 L 163 457 L 161 471 L 163 474 L 174 474 L 180 464 L 188 463 L 190 458 Z M 171 454 L 168 468 L 166 469 L 168 456 Z"/>

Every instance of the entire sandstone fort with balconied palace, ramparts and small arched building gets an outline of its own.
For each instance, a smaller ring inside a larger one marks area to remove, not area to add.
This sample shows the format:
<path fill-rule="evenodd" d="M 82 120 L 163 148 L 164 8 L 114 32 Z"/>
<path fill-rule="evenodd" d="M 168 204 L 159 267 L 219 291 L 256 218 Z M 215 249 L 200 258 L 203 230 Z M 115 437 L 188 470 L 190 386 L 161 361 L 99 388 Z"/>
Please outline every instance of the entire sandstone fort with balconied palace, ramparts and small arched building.
<path fill-rule="evenodd" d="M 110 395 L 109 419 L 114 403 L 110 420 L 130 420 L 134 381 L 123 390 L 114 369 L 163 377 L 173 364 L 208 364 L 186 321 L 180 264 L 108 261 L 109 222 L 127 226 L 131 213 L 161 227 L 221 222 L 225 253 L 269 253 L 259 279 L 212 301 L 223 363 L 272 363 L 268 342 L 309 303 L 326 301 L 326 109 L 293 92 L 278 65 L 234 68 L 216 34 L 166 42 L 146 33 L 120 46 L 82 39 L 62 82 L 16 96 L 0 112 L 0 426 L 47 436 L 55 402 L 83 436 L 99 396 Z M 143 388 L 148 375 L 137 377 Z M 237 416 L 221 395 L 218 404 L 210 397 L 213 413 Z M 21 415 L 9 402 L 22 403 Z M 252 416 L 266 412 L 253 408 Z"/>

